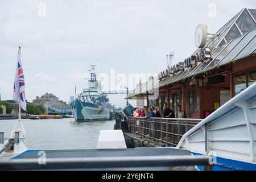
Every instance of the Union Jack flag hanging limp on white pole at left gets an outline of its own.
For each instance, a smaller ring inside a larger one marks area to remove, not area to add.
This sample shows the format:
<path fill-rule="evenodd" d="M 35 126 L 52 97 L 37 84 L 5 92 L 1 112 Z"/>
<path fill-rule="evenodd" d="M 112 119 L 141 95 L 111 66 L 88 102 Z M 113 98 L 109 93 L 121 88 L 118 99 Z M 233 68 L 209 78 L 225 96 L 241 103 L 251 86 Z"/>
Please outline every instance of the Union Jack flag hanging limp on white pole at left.
<path fill-rule="evenodd" d="M 16 66 L 16 73 L 14 78 L 13 98 L 20 104 L 23 110 L 26 108 L 26 96 L 25 96 L 25 81 L 22 69 L 22 63 L 20 60 L 20 47 L 18 51 L 18 63 Z"/>

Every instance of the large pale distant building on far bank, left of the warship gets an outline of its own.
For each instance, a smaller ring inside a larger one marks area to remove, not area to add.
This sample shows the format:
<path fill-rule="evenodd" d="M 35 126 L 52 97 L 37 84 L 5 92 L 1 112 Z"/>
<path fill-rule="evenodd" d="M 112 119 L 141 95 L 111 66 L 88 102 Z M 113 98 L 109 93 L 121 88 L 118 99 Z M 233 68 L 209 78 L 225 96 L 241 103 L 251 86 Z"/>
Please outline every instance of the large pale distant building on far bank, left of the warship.
<path fill-rule="evenodd" d="M 59 98 L 54 96 L 52 93 L 46 93 L 41 97 L 36 96 L 36 99 L 32 101 L 32 104 L 34 104 L 34 105 L 41 104 L 46 108 L 46 111 L 48 111 L 49 106 L 57 107 L 61 110 L 70 109 L 67 102 L 59 100 Z"/>

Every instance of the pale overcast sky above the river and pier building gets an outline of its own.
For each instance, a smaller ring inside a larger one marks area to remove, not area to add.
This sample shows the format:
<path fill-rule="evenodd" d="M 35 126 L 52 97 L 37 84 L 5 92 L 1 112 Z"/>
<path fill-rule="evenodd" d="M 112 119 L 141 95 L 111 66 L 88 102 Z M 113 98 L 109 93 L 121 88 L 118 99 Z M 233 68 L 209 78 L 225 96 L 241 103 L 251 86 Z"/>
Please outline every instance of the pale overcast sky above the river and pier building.
<path fill-rule="evenodd" d="M 18 46 L 27 100 L 48 92 L 69 101 L 75 85 L 77 92 L 87 87 L 84 78 L 90 64 L 97 65 L 98 74 L 110 74 L 111 69 L 125 75 L 158 73 L 166 68 L 170 50 L 175 51 L 174 63 L 195 51 L 197 24 L 207 24 L 209 32 L 216 32 L 243 7 L 255 9 L 256 3 L 0 0 L 2 100 L 13 97 Z M 126 104 L 125 95 L 109 97 L 114 105 Z"/>

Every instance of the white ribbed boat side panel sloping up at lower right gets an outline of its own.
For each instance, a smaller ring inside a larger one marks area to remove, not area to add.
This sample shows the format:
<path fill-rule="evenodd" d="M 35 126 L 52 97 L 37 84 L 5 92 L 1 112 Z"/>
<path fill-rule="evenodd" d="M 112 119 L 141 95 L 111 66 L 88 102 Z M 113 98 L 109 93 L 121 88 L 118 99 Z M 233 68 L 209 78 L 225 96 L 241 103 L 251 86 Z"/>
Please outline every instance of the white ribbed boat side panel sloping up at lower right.
<path fill-rule="evenodd" d="M 183 135 L 177 148 L 256 163 L 256 82 Z"/>

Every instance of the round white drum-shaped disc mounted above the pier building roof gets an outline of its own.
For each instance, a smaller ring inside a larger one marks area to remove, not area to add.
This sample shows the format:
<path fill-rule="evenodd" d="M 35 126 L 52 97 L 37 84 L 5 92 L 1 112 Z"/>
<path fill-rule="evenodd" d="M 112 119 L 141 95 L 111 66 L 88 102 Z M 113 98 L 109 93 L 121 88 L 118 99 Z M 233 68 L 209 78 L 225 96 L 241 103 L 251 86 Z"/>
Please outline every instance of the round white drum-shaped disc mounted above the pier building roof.
<path fill-rule="evenodd" d="M 203 48 L 207 43 L 207 26 L 205 24 L 199 24 L 196 27 L 195 43 L 199 48 Z"/>

